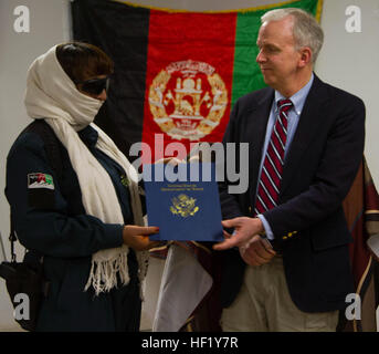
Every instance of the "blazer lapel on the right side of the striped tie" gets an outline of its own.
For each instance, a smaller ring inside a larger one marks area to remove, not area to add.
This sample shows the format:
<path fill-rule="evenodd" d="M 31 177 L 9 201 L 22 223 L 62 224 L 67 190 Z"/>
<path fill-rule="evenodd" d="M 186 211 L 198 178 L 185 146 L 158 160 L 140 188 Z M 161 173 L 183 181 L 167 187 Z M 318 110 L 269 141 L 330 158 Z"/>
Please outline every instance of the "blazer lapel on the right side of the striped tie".
<path fill-rule="evenodd" d="M 328 101 L 325 87 L 325 84 L 315 75 L 288 155 L 284 163 L 281 195 L 283 195 L 291 185 L 293 174 L 299 168 L 298 165 L 303 153 L 312 143 L 314 135 L 317 134 L 320 117 L 324 116 L 323 111 L 325 110 L 325 102 Z"/>

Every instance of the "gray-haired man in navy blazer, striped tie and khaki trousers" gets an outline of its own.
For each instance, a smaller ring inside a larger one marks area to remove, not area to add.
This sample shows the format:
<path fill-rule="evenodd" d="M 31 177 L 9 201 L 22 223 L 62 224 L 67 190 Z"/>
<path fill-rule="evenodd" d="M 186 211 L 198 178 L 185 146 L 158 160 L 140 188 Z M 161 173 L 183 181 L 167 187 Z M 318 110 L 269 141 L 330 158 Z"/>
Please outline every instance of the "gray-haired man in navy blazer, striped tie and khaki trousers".
<path fill-rule="evenodd" d="M 249 190 L 220 186 L 224 331 L 335 331 L 354 292 L 341 202 L 362 158 L 365 106 L 313 73 L 323 39 L 302 10 L 262 18 L 269 87 L 236 102 L 224 135 L 250 143 L 249 166 L 236 159 Z"/>

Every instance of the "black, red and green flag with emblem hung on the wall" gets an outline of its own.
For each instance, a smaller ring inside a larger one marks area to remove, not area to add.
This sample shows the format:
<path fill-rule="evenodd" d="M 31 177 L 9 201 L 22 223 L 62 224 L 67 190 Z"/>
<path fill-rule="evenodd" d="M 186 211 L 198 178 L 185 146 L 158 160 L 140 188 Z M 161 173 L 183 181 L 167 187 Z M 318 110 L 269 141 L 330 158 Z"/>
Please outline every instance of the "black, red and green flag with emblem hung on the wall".
<path fill-rule="evenodd" d="M 73 1 L 74 39 L 102 48 L 115 62 L 108 100 L 96 123 L 131 159 L 130 146 L 147 144 L 145 163 L 183 158 L 197 142 L 221 142 L 233 103 L 265 85 L 255 62 L 261 17 L 295 7 L 319 20 L 322 3 L 298 0 L 189 12 Z"/>

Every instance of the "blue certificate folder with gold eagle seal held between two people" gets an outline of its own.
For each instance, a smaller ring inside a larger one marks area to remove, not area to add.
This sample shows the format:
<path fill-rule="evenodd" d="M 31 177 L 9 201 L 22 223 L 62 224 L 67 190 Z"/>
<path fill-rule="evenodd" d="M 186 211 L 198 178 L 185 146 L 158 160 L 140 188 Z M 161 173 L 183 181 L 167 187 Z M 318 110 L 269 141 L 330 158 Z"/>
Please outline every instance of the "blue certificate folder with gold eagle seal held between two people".
<path fill-rule="evenodd" d="M 143 176 L 151 240 L 223 240 L 214 164 L 144 165 Z"/>

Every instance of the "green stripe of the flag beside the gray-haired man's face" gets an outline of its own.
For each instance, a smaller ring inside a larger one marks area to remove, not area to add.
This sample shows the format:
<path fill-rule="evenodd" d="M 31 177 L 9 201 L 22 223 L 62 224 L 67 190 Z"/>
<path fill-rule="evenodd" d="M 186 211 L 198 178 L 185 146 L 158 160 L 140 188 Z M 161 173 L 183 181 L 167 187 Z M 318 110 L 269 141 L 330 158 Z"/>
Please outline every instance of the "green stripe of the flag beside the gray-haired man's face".
<path fill-rule="evenodd" d="M 232 106 L 244 94 L 265 86 L 260 66 L 255 59 L 259 53 L 256 46 L 257 33 L 261 27 L 261 17 L 273 9 L 299 8 L 313 13 L 315 17 L 322 0 L 299 0 L 286 2 L 281 6 L 265 9 L 243 11 L 238 13 L 235 29 L 235 49 L 233 65 Z"/>

